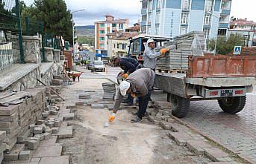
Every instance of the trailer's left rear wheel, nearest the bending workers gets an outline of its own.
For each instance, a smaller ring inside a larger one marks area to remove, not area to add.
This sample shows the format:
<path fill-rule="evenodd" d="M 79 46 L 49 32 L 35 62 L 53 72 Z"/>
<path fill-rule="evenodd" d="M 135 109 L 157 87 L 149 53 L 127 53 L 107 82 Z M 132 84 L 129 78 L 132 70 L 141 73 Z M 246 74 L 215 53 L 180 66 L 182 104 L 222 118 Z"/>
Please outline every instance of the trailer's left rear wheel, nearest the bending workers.
<path fill-rule="evenodd" d="M 175 117 L 183 118 L 187 116 L 187 112 L 190 109 L 190 99 L 183 98 L 181 96 L 171 95 L 171 108 L 172 114 Z"/>

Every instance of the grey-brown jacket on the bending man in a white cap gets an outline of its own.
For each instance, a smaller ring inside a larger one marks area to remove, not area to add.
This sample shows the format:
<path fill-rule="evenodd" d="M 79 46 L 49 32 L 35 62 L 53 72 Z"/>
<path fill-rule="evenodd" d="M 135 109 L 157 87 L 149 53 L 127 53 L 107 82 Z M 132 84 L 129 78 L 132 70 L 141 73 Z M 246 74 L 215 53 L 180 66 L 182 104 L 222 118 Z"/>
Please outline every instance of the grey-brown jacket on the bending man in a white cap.
<path fill-rule="evenodd" d="M 134 73 L 131 73 L 125 80 L 131 83 L 131 90 L 136 96 L 146 96 L 149 93 L 149 90 L 152 90 L 154 86 L 154 76 L 155 74 L 152 69 L 141 68 Z M 118 90 L 115 105 L 113 107 L 115 110 L 119 110 L 122 98 L 123 96 Z"/>

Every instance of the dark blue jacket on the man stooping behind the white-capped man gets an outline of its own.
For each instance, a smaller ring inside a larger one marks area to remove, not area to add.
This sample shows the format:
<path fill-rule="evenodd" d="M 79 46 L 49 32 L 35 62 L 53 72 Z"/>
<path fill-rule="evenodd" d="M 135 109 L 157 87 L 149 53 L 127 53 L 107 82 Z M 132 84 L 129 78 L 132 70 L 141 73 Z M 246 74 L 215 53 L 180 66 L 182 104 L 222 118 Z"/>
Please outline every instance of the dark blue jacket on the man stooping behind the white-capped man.
<path fill-rule="evenodd" d="M 119 66 L 125 71 L 125 73 L 133 73 L 139 67 L 139 62 L 130 57 L 122 57 L 119 60 Z"/>

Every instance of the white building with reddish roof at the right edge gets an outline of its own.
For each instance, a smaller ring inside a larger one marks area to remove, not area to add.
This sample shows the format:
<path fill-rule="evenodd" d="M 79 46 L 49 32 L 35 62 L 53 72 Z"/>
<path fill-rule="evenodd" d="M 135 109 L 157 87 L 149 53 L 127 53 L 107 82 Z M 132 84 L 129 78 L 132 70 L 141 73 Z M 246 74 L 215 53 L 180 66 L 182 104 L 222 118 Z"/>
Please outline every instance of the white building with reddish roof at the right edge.
<path fill-rule="evenodd" d="M 236 19 L 230 22 L 228 35 L 239 33 L 244 37 L 244 45 L 256 47 L 256 22 L 247 19 Z"/>

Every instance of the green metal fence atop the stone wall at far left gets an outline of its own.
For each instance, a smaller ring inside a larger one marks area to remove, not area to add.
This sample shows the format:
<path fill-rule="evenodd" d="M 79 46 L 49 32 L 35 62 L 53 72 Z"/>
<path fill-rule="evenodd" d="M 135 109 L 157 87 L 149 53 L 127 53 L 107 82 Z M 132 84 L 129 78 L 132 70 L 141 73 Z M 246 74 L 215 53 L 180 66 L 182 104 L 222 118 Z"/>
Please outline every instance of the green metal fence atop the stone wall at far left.
<path fill-rule="evenodd" d="M 0 73 L 13 64 L 12 37 L 19 37 L 20 62 L 24 63 L 18 0 L 0 0 Z"/>

